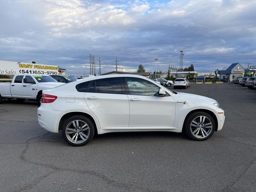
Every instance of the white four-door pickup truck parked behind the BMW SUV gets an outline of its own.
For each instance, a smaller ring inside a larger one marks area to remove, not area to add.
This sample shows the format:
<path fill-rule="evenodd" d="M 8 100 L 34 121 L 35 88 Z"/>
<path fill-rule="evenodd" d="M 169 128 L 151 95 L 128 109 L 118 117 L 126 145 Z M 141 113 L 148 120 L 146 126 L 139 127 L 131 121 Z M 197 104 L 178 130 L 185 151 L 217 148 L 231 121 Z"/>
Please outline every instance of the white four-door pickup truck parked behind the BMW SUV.
<path fill-rule="evenodd" d="M 47 75 L 15 75 L 11 83 L 0 83 L 0 104 L 4 99 L 16 98 L 23 102 L 25 99 L 34 99 L 40 102 L 42 90 L 60 86 L 54 78 Z"/>

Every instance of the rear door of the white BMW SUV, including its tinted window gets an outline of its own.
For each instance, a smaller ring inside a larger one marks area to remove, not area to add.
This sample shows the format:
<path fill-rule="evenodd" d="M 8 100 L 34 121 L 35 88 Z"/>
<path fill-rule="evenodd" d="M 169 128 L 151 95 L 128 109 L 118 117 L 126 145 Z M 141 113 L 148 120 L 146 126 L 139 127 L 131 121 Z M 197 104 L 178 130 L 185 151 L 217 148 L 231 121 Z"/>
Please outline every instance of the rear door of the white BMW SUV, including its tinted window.
<path fill-rule="evenodd" d="M 93 80 L 84 99 L 97 116 L 101 128 L 128 127 L 129 101 L 124 88 L 124 78 Z"/>

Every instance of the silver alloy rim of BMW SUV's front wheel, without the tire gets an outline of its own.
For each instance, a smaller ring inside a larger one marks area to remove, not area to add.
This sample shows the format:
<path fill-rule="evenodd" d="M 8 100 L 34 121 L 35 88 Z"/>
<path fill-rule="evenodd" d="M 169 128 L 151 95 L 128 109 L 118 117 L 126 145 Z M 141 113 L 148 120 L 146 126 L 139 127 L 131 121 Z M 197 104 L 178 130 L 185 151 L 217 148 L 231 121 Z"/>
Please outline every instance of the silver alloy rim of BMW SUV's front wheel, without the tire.
<path fill-rule="evenodd" d="M 206 138 L 212 132 L 212 122 L 206 116 L 197 116 L 190 123 L 190 131 L 196 138 Z"/>

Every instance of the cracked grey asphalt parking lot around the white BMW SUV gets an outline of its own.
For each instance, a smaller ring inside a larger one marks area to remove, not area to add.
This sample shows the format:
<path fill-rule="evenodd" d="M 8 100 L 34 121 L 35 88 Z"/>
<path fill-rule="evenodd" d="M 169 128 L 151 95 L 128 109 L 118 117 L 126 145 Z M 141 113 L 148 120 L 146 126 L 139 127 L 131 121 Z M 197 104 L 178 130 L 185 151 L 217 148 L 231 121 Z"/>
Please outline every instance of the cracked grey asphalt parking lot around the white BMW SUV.
<path fill-rule="evenodd" d="M 1 104 L 0 191 L 255 192 L 256 90 L 226 83 L 175 91 L 216 99 L 223 129 L 203 142 L 136 132 L 72 147 L 40 128 L 35 102 Z"/>

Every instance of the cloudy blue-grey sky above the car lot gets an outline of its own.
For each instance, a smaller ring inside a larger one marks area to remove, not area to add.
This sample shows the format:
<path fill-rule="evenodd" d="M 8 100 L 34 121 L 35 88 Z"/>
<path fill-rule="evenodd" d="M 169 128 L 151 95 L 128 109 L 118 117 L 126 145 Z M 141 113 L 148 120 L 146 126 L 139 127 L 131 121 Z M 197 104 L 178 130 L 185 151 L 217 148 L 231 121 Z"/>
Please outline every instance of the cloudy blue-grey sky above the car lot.
<path fill-rule="evenodd" d="M 256 0 L 0 0 L 0 60 L 57 65 L 66 74 L 256 65 Z M 155 58 L 158 60 L 155 62 Z"/>

